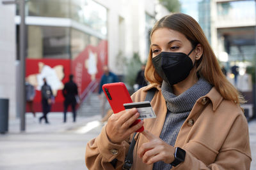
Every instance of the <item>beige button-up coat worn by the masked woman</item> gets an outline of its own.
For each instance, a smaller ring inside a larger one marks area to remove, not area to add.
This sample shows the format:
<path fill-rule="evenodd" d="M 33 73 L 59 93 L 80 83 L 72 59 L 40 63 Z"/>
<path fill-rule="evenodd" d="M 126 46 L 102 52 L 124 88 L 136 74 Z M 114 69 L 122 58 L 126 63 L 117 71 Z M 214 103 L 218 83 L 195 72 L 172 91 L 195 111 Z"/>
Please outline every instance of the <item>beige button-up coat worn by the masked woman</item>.
<path fill-rule="evenodd" d="M 157 85 L 150 84 L 138 90 L 132 95 L 132 101 L 144 101 L 147 90 L 152 87 Z M 144 127 L 160 136 L 167 109 L 161 89 L 157 89 L 151 101 L 157 118 L 145 119 Z M 140 134 L 137 138 L 132 169 L 151 170 L 153 165 L 144 164 L 136 153 L 147 139 Z M 238 105 L 223 99 L 214 87 L 196 101 L 180 128 L 175 142 L 177 146 L 186 150 L 186 158 L 173 169 L 250 169 L 252 158 L 248 124 L 243 111 Z M 118 159 L 116 169 L 122 169 L 128 148 L 127 141 L 123 141 L 122 145 L 111 143 L 103 127 L 99 136 L 86 146 L 86 166 L 90 170 L 111 170 L 114 168 L 109 162 Z"/>

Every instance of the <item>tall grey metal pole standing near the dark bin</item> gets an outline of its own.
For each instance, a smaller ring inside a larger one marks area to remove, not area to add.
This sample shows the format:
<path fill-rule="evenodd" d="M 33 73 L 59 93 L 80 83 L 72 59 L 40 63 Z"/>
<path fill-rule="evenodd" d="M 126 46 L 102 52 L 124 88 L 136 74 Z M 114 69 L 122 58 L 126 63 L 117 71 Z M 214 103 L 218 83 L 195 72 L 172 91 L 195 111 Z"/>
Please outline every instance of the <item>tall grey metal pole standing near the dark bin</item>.
<path fill-rule="evenodd" d="M 25 68 L 26 68 L 26 57 L 25 57 L 25 0 L 19 1 L 20 5 L 20 131 L 25 131 L 26 129 L 26 87 L 25 87 Z"/>

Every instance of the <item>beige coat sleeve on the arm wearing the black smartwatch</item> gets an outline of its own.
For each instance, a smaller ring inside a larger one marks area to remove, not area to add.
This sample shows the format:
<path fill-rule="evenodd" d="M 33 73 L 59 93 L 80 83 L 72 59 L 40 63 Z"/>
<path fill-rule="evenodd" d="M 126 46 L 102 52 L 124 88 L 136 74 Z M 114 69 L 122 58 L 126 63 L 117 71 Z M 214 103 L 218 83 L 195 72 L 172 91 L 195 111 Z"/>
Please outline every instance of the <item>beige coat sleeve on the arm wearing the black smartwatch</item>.
<path fill-rule="evenodd" d="M 228 132 L 213 164 L 205 165 L 192 153 L 186 152 L 185 161 L 173 169 L 247 170 L 250 169 L 251 161 L 248 124 L 246 118 L 240 114 Z"/>

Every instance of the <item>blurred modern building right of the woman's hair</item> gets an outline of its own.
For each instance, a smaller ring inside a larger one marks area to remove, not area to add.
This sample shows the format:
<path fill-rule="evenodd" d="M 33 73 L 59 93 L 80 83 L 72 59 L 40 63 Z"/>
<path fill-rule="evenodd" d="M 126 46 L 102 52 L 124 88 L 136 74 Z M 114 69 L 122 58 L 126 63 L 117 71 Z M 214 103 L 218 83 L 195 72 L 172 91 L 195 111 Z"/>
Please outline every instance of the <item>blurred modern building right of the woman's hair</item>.
<path fill-rule="evenodd" d="M 256 113 L 255 80 L 256 29 L 254 0 L 180 0 L 181 11 L 194 17 L 218 58 L 227 79 L 241 92 L 247 103 L 244 115 Z M 254 82 L 255 85 L 255 82 Z M 253 110 L 254 107 L 254 110 Z"/>

